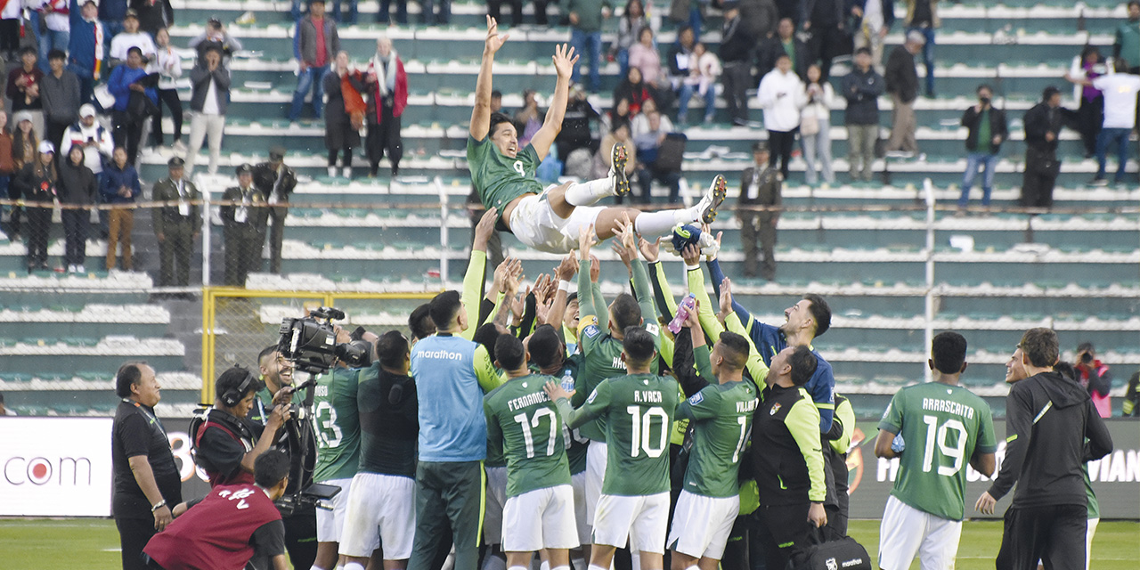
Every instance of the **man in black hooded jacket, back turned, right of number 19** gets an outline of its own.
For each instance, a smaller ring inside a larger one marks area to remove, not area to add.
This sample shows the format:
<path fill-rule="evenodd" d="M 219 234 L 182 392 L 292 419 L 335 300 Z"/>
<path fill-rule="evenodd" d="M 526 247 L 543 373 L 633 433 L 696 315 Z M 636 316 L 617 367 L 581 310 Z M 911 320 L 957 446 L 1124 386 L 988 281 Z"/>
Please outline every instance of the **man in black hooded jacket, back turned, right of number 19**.
<path fill-rule="evenodd" d="M 1053 370 L 1059 352 L 1057 333 L 1031 328 L 1007 365 L 1013 385 L 1005 397 L 1005 459 L 975 505 L 993 514 L 997 499 L 1018 483 L 1005 512 L 997 570 L 1036 568 L 1039 560 L 1045 568 L 1085 567 L 1089 499 L 1082 466 L 1108 455 L 1113 440 L 1089 393 Z"/>

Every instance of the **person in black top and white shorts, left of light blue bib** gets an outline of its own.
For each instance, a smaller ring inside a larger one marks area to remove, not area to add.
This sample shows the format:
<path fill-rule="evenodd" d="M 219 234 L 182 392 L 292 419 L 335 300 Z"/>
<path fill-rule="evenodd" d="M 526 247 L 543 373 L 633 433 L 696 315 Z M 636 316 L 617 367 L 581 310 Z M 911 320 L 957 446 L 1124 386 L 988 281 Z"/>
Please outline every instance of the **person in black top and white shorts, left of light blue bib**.
<path fill-rule="evenodd" d="M 364 570 L 381 542 L 385 570 L 404 570 L 412 555 L 420 422 L 410 350 L 407 337 L 389 331 L 376 342 L 377 361 L 360 372 L 360 462 L 341 540 L 344 570 Z"/>

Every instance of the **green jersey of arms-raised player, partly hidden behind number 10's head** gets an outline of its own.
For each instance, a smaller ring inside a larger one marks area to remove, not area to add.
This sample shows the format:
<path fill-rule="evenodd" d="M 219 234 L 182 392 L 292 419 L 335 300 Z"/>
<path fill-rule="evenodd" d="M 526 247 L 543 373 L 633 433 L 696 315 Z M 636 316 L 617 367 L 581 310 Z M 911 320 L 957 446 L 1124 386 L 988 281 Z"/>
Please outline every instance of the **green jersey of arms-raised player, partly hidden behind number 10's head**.
<path fill-rule="evenodd" d="M 661 351 L 661 329 L 653 323 L 645 323 L 645 331 L 653 335 L 653 348 Z M 621 360 L 621 341 L 602 331 L 596 316 L 587 316 L 578 323 L 578 345 L 581 349 L 584 392 L 589 394 L 601 385 L 602 381 L 625 376 L 626 363 Z M 650 365 L 653 374 L 658 373 L 658 359 Z M 584 424 L 579 432 L 593 441 L 606 441 L 605 416 Z"/>

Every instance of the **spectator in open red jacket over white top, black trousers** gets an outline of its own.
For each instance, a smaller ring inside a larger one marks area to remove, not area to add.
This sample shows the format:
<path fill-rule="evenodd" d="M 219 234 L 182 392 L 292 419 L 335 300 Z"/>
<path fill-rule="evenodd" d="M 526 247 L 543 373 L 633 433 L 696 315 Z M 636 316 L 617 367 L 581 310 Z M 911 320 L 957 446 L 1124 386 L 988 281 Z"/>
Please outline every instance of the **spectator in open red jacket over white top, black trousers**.
<path fill-rule="evenodd" d="M 368 64 L 365 83 L 368 88 L 368 135 L 365 140 L 368 176 L 376 176 L 380 160 L 388 153 L 394 178 L 400 173 L 400 158 L 404 157 L 400 116 L 408 106 L 408 74 L 404 71 L 404 60 L 392 49 L 392 40 L 386 36 L 376 39 L 376 54 Z M 519 144 L 526 145 L 521 140 Z"/>

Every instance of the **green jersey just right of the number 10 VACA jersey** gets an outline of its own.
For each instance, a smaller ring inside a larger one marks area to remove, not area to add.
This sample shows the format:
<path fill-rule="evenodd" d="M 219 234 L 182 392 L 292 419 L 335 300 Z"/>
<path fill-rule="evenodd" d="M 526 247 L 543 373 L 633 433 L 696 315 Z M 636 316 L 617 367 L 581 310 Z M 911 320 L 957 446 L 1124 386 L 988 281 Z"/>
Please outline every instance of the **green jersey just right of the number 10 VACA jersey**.
<path fill-rule="evenodd" d="M 706 497 L 740 494 L 740 456 L 751 433 L 759 402 L 756 386 L 744 380 L 709 384 L 677 407 L 677 418 L 695 422 L 684 489 Z"/>

